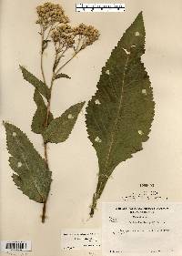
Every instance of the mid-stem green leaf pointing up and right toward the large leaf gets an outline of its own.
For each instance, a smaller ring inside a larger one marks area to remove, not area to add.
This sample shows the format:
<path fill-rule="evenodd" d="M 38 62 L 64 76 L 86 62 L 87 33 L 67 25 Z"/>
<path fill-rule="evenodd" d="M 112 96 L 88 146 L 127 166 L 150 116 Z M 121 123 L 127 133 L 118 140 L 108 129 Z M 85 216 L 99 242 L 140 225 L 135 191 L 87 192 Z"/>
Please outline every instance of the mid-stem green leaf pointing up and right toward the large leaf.
<path fill-rule="evenodd" d="M 75 126 L 76 119 L 85 102 L 77 103 L 68 108 L 59 118 L 55 118 L 45 129 L 45 142 L 59 143 L 66 140 Z"/>

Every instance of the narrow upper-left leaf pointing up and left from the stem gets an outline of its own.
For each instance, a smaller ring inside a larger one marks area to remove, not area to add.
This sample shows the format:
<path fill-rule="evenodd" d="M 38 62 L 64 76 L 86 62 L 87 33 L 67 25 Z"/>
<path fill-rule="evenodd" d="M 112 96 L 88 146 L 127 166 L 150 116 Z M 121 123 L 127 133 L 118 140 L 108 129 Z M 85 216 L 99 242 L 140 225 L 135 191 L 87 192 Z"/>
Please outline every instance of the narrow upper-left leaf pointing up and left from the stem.
<path fill-rule="evenodd" d="M 20 68 L 22 70 L 24 79 L 30 84 L 32 84 L 48 100 L 50 97 L 50 90 L 45 85 L 45 83 L 43 83 L 33 74 L 31 74 L 28 70 L 26 70 L 25 67 L 20 66 Z"/>

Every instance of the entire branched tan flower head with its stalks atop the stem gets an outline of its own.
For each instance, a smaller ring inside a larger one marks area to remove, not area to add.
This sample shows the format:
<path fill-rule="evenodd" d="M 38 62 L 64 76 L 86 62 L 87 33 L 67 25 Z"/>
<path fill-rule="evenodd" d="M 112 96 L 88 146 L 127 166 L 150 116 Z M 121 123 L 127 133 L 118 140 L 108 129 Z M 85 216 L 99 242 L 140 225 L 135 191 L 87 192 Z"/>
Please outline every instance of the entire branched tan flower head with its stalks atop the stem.
<path fill-rule="evenodd" d="M 69 19 L 61 5 L 46 2 L 44 5 L 38 5 L 36 12 L 38 15 L 36 23 L 41 28 L 39 32 L 42 40 L 41 61 L 43 61 L 43 53 L 49 42 L 55 45 L 53 72 L 59 72 L 60 68 L 65 67 L 78 52 L 92 45 L 99 37 L 99 32 L 94 26 L 86 26 L 83 23 L 76 27 L 70 26 Z M 58 68 L 60 60 L 66 56 L 66 51 L 69 55 L 73 50 L 74 54 L 71 58 Z"/>

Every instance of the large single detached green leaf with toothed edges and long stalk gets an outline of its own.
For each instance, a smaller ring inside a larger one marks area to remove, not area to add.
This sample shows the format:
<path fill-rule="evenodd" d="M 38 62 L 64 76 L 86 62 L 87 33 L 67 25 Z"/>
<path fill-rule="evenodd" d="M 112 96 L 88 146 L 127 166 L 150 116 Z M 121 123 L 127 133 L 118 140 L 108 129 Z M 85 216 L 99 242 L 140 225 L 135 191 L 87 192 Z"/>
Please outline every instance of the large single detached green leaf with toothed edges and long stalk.
<path fill-rule="evenodd" d="M 91 217 L 113 170 L 142 150 L 142 142 L 148 139 L 155 103 L 141 62 L 144 52 L 145 27 L 140 13 L 102 68 L 96 95 L 86 108 L 87 132 L 99 164 Z"/>

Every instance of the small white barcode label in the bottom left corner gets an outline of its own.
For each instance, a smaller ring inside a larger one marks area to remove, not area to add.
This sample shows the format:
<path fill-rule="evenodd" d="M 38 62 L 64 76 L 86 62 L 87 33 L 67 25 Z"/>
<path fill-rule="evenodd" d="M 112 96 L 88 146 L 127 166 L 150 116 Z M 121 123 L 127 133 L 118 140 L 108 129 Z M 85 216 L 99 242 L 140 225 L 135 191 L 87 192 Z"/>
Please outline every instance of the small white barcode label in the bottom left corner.
<path fill-rule="evenodd" d="M 0 251 L 31 251 L 31 241 L 0 241 Z"/>

